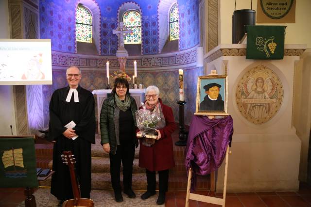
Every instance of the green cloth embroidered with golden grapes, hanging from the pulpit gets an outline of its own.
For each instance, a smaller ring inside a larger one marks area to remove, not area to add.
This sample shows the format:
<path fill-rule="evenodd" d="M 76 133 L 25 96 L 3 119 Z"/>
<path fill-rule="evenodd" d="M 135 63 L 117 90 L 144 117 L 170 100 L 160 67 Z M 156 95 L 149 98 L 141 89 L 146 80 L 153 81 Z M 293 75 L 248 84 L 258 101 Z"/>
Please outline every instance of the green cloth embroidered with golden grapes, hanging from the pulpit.
<path fill-rule="evenodd" d="M 246 26 L 246 59 L 283 59 L 285 28 L 286 26 Z"/>

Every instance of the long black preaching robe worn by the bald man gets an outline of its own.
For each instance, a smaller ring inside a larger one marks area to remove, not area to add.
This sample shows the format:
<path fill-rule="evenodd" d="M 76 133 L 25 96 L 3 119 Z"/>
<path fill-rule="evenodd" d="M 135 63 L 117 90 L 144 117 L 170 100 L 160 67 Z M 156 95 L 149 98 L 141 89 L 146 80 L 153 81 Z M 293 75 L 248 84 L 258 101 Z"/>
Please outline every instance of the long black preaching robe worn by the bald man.
<path fill-rule="evenodd" d="M 49 140 L 55 140 L 53 148 L 53 171 L 51 193 L 59 200 L 73 198 L 69 167 L 63 164 L 61 155 L 71 150 L 76 158 L 75 171 L 79 179 L 81 197 L 89 198 L 91 191 L 91 143 L 95 143 L 95 102 L 91 92 L 78 86 L 79 102 L 66 102 L 69 86 L 54 91 L 50 102 Z M 66 138 L 64 127 L 74 121 L 73 128 L 79 135 L 75 140 Z"/>

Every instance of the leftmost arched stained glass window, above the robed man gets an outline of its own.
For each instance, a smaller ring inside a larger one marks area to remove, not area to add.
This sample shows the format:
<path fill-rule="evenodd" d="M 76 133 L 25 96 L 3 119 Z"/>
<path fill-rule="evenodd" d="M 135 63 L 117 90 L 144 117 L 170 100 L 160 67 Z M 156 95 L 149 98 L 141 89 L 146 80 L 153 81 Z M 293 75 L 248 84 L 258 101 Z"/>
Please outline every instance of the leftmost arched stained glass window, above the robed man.
<path fill-rule="evenodd" d="M 92 42 L 92 15 L 83 6 L 77 7 L 76 40 L 78 42 Z"/>

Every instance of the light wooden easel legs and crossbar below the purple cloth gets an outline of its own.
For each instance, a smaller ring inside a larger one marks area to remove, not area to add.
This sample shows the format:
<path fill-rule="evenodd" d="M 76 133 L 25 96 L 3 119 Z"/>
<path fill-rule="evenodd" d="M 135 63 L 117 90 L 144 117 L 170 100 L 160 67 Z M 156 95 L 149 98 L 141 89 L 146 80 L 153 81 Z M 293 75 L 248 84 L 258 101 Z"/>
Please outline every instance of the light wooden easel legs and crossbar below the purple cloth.
<path fill-rule="evenodd" d="M 224 192 L 223 198 L 215 198 L 207 195 L 200 195 L 195 193 L 190 193 L 190 186 L 191 186 L 191 176 L 192 176 L 192 169 L 189 169 L 188 174 L 188 185 L 187 185 L 187 196 L 186 196 L 186 205 L 185 207 L 189 207 L 189 199 L 195 201 L 201 201 L 210 204 L 217 204 L 225 207 L 225 194 L 227 188 L 227 172 L 228 172 L 228 156 L 229 156 L 229 146 L 225 152 L 225 181 L 224 181 Z"/>

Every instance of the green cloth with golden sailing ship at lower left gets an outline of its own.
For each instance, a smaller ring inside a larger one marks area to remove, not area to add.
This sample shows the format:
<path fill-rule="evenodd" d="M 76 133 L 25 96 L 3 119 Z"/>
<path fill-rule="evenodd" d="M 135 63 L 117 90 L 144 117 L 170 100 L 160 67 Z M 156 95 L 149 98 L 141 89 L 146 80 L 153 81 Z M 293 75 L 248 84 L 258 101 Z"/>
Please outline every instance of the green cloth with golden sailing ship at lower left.
<path fill-rule="evenodd" d="M 0 138 L 0 188 L 37 186 L 34 137 Z"/>

